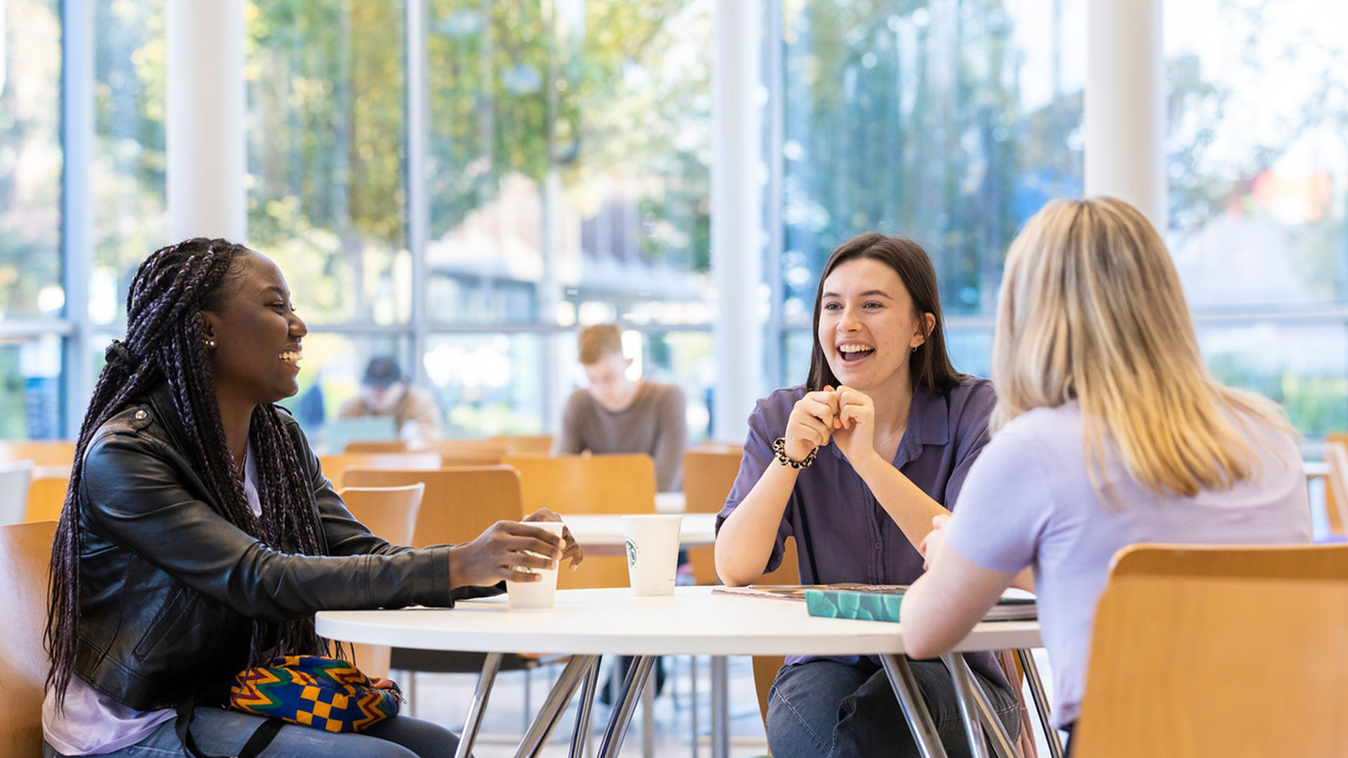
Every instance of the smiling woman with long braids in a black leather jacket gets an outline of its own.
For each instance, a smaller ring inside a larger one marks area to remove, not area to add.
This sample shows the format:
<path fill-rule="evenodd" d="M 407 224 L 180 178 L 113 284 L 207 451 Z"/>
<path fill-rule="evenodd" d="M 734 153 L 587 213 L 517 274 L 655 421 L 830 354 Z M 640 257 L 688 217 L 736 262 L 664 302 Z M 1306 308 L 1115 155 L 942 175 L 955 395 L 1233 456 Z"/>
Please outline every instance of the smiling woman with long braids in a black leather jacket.
<path fill-rule="evenodd" d="M 453 606 L 551 564 L 522 550 L 580 562 L 570 534 L 522 522 L 422 550 L 372 535 L 272 405 L 298 388 L 305 334 L 280 271 L 241 245 L 191 239 L 136 271 L 51 553 L 47 758 L 182 754 L 189 722 L 201 751 L 235 755 L 263 719 L 220 707 L 231 680 L 275 654 L 328 651 L 315 611 Z M 183 704 L 191 718 L 177 718 Z M 363 734 L 286 726 L 263 755 L 427 758 L 456 745 L 396 716 Z"/>

